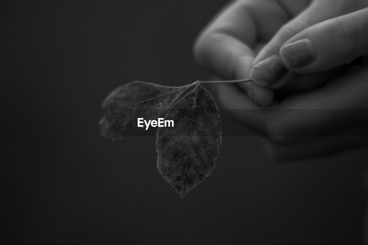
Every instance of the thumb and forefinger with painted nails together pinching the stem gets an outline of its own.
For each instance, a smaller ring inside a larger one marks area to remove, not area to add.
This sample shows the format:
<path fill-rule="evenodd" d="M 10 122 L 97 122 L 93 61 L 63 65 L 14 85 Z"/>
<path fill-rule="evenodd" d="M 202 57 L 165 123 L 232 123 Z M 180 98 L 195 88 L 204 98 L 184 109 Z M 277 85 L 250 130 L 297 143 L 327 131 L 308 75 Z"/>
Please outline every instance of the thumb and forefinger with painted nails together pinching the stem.
<path fill-rule="evenodd" d="M 331 74 L 332 68 L 367 55 L 367 7 L 366 0 L 312 1 L 255 58 L 250 71 L 253 81 L 279 88 L 292 81 L 294 72 Z M 276 67 L 271 72 L 270 64 Z M 286 74 L 284 67 L 292 72 Z"/>

